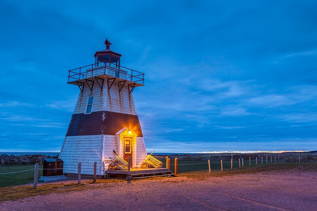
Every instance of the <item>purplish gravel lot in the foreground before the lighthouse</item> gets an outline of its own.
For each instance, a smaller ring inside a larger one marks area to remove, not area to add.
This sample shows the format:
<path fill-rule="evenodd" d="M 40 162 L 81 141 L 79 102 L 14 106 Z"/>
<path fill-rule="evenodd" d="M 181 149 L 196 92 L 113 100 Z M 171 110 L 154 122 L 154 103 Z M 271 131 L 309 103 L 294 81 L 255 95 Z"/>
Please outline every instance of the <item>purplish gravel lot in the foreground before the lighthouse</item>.
<path fill-rule="evenodd" d="M 198 179 L 178 176 L 89 185 L 83 191 L 4 202 L 0 210 L 317 210 L 316 172 L 270 171 Z"/>

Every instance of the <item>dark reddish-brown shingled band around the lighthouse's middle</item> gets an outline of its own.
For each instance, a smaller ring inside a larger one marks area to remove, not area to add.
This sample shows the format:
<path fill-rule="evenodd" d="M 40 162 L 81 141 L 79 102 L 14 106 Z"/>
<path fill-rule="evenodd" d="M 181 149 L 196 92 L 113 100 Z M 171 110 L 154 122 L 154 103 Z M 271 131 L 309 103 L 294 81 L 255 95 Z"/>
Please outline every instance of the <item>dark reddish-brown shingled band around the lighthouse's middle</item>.
<path fill-rule="evenodd" d="M 66 136 L 115 135 L 124 127 L 143 137 L 137 115 L 109 111 L 73 114 Z"/>

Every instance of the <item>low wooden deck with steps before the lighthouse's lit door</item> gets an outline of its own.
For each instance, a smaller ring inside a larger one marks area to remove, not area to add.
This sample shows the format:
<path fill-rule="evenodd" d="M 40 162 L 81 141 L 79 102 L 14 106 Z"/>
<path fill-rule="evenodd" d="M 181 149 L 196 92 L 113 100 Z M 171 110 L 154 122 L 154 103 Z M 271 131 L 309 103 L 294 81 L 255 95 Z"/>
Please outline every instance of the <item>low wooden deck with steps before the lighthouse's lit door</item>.
<path fill-rule="evenodd" d="M 126 177 L 128 175 L 128 171 L 124 170 L 106 170 L 106 176 L 107 178 L 111 177 Z M 170 169 L 166 168 L 159 168 L 159 169 L 130 169 L 129 176 L 131 176 L 133 179 L 141 179 L 141 178 L 147 178 L 152 176 L 174 176 L 172 174 Z"/>

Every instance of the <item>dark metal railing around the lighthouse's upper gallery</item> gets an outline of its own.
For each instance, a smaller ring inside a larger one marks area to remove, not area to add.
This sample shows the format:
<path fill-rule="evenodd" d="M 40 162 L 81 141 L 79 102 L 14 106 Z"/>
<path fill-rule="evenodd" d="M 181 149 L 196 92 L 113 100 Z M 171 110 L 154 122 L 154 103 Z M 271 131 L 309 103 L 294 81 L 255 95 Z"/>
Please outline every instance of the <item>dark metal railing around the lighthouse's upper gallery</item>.
<path fill-rule="evenodd" d="M 111 64 L 113 64 L 114 66 L 111 66 Z M 127 80 L 130 79 L 130 81 L 132 82 L 137 82 L 144 85 L 144 73 L 108 61 L 98 62 L 91 65 L 68 70 L 68 82 L 87 79 L 89 77 L 94 77 L 102 74 L 109 75 L 108 70 L 110 70 L 110 72 L 113 71 L 113 75 L 111 76 L 113 76 L 114 78 L 126 77 Z"/>

